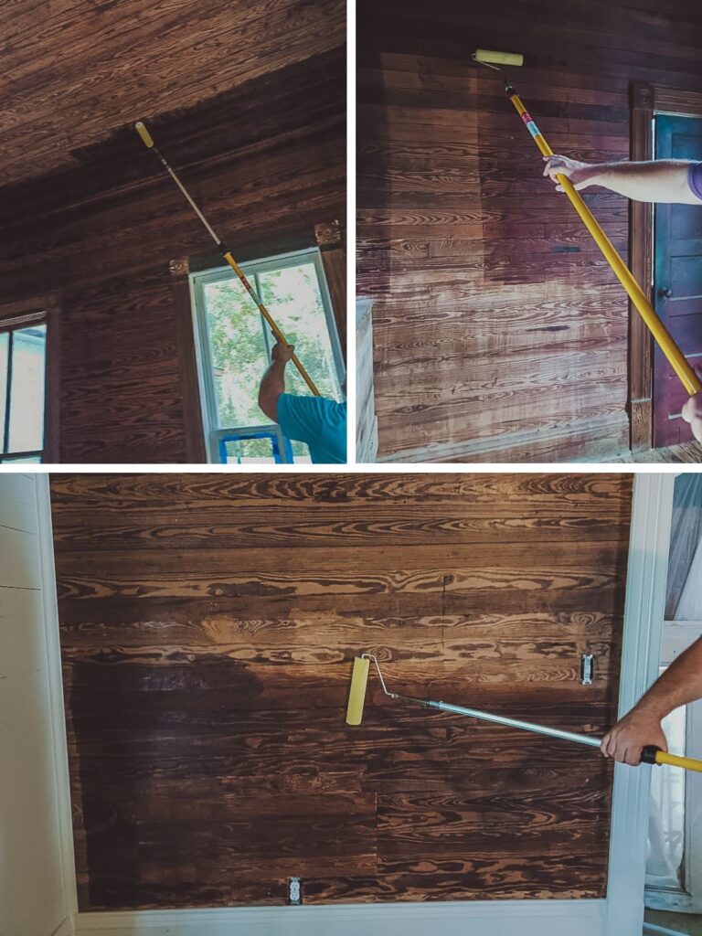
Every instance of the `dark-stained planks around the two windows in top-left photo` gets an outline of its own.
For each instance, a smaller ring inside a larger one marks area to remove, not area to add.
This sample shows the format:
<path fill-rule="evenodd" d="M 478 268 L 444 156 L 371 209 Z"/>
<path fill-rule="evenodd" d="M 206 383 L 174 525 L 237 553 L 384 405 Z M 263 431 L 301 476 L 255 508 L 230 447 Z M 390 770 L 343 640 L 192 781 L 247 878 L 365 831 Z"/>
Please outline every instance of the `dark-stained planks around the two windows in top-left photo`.
<path fill-rule="evenodd" d="M 344 219 L 344 59 L 151 122 L 235 256 L 314 246 L 315 224 Z M 4 300 L 57 294 L 61 461 L 187 461 L 169 261 L 212 241 L 131 125 L 80 162 L 5 189 L 0 231 Z"/>

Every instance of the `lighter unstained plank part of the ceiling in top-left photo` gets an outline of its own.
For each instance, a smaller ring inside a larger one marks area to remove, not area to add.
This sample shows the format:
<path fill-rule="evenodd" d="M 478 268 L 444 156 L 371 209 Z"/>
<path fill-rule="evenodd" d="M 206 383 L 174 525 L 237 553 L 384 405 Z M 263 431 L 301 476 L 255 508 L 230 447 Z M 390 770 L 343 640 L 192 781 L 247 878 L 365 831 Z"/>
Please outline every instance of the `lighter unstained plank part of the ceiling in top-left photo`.
<path fill-rule="evenodd" d="M 0 0 L 0 186 L 345 41 L 344 0 Z"/>

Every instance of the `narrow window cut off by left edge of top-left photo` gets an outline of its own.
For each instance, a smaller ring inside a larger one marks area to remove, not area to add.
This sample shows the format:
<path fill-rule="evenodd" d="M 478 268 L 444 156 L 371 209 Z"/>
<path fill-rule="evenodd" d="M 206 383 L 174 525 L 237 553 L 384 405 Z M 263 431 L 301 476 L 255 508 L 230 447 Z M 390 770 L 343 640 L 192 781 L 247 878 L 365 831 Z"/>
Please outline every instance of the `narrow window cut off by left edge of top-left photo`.
<path fill-rule="evenodd" d="M 46 374 L 46 315 L 0 318 L 0 462 L 43 461 Z"/>

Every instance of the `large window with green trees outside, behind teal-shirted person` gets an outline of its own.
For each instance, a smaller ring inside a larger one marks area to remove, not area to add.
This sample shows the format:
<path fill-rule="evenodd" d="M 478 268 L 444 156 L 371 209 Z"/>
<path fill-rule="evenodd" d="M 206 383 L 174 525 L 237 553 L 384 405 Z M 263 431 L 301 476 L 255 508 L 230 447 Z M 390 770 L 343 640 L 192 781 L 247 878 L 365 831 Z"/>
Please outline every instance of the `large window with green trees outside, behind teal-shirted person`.
<path fill-rule="evenodd" d="M 307 368 L 319 392 L 342 399 L 344 363 L 319 251 L 299 251 L 242 265 L 258 295 Z M 258 408 L 258 385 L 274 339 L 262 315 L 227 266 L 194 273 L 193 292 L 208 460 L 222 463 L 310 461 Z M 308 394 L 294 365 L 285 386 Z"/>

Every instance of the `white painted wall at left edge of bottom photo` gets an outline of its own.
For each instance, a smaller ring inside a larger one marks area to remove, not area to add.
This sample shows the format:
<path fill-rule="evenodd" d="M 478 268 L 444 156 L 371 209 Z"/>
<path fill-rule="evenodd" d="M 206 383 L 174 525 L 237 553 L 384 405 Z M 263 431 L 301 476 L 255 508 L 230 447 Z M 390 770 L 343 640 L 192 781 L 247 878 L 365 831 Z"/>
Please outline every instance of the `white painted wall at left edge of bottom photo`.
<path fill-rule="evenodd" d="M 2 936 L 51 936 L 68 915 L 49 667 L 57 635 L 45 607 L 55 595 L 42 588 L 38 534 L 42 485 L 46 475 L 0 475 Z"/>

